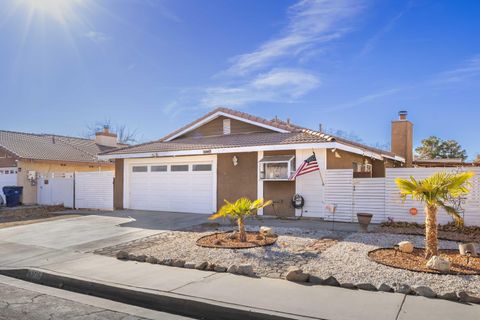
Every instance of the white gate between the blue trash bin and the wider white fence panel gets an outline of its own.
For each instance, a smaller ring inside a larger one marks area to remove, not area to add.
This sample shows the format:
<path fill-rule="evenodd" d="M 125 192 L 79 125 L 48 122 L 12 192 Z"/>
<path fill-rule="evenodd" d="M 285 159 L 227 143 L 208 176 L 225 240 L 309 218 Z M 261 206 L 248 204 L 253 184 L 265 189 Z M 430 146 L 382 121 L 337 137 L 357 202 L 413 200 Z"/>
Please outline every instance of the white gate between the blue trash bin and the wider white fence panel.
<path fill-rule="evenodd" d="M 37 183 L 38 204 L 73 208 L 73 173 L 49 173 Z"/>

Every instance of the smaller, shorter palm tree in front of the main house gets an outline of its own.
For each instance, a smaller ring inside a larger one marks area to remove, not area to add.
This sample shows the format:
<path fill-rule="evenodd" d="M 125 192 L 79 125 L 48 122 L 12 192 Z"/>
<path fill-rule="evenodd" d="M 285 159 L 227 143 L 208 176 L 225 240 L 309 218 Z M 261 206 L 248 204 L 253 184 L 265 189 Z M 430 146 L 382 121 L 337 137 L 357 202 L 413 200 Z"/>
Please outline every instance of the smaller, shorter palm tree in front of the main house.
<path fill-rule="evenodd" d="M 247 234 L 245 232 L 245 218 L 256 215 L 257 211 L 261 208 L 269 206 L 272 204 L 271 200 L 263 201 L 263 199 L 257 199 L 252 201 L 248 198 L 240 198 L 235 203 L 228 202 L 225 200 L 225 204 L 220 210 L 210 216 L 210 220 L 218 218 L 229 217 L 231 219 L 236 219 L 238 224 L 239 238 L 241 242 L 247 241 Z"/>

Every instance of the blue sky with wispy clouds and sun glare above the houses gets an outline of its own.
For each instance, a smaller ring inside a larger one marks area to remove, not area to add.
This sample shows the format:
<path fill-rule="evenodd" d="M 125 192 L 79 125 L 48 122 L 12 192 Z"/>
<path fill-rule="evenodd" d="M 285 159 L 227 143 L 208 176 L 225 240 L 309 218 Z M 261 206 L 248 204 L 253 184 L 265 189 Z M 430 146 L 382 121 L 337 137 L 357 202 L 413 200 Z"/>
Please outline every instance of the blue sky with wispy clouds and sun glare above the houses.
<path fill-rule="evenodd" d="M 1 129 L 143 141 L 227 106 L 480 153 L 479 1 L 3 0 Z"/>

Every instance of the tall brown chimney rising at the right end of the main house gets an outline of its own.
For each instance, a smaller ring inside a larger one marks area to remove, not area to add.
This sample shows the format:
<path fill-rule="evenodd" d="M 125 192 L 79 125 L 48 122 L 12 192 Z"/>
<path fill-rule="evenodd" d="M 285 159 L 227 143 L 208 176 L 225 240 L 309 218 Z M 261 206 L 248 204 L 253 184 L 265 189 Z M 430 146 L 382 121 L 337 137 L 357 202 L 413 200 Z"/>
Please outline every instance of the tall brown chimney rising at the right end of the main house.
<path fill-rule="evenodd" d="M 392 152 L 405 158 L 405 166 L 413 161 L 413 123 L 407 119 L 408 112 L 400 111 L 398 120 L 392 121 Z"/>

